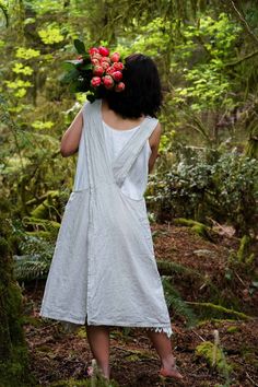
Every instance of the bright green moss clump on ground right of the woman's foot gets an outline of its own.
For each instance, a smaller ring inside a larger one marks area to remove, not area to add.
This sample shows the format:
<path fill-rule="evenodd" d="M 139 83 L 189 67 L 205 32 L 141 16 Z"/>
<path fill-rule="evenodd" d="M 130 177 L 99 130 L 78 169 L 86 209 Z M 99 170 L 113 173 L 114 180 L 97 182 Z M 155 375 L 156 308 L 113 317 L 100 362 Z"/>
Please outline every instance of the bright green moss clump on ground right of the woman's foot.
<path fill-rule="evenodd" d="M 225 375 L 232 371 L 232 365 L 227 364 L 221 348 L 215 347 L 211 341 L 203 341 L 196 348 L 196 356 L 206 360 L 210 367 L 215 367 L 220 374 Z"/>

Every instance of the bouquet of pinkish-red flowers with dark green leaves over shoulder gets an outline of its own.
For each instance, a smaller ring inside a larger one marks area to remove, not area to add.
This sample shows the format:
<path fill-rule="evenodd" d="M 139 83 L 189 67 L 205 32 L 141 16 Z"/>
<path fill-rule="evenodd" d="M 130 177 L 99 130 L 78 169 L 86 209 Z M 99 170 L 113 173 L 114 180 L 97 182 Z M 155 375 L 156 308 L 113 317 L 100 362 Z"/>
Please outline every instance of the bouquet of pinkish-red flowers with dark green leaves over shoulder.
<path fill-rule="evenodd" d="M 83 42 L 75 39 L 74 47 L 79 54 L 74 60 L 67 60 L 64 69 L 67 73 L 61 81 L 70 85 L 72 92 L 90 92 L 87 99 L 95 101 L 99 87 L 122 92 L 124 63 L 119 52 L 109 55 L 106 47 L 92 47 L 86 51 Z"/>

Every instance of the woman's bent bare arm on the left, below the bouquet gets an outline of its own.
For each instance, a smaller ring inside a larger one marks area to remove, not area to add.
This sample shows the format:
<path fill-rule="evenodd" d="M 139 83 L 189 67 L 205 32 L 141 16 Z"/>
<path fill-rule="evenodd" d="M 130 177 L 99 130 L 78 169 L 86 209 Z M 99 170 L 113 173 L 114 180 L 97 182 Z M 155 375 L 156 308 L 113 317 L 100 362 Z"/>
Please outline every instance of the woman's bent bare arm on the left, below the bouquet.
<path fill-rule="evenodd" d="M 77 153 L 83 126 L 82 109 L 78 113 L 70 127 L 62 136 L 60 143 L 60 153 L 63 157 L 68 157 Z"/>

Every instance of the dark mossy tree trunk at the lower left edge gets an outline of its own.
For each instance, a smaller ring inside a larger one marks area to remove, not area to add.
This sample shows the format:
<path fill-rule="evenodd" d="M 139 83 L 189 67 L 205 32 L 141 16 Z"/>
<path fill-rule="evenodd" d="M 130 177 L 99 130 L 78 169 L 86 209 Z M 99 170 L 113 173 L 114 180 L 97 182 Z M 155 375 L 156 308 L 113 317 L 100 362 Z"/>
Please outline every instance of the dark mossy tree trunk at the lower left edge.
<path fill-rule="evenodd" d="M 3 237 L 0 257 L 0 387 L 33 386 L 22 327 L 22 295 Z"/>

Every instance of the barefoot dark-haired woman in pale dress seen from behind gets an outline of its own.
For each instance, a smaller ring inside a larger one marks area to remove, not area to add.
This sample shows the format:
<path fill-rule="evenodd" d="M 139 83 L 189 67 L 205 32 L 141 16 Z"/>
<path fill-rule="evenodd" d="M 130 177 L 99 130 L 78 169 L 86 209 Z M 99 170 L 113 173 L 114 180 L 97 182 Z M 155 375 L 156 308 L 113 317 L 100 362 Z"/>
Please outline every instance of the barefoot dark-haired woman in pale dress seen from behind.
<path fill-rule="evenodd" d="M 79 156 L 40 316 L 86 324 L 106 378 L 109 327 L 145 328 L 160 375 L 180 379 L 143 197 L 161 138 L 160 79 L 152 59 L 138 54 L 126 59 L 122 80 L 125 91 L 101 89 L 62 137 L 62 156 Z"/>

